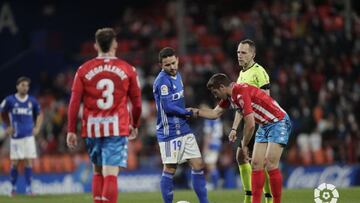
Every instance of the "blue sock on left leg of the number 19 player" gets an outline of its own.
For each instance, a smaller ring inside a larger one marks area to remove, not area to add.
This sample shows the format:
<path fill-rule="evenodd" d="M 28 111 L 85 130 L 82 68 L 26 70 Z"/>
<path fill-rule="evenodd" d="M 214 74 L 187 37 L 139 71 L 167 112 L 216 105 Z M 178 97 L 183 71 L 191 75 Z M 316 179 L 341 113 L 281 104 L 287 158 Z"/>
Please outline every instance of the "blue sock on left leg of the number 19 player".
<path fill-rule="evenodd" d="M 164 203 L 172 203 L 174 198 L 174 174 L 163 171 L 160 180 L 160 189 Z"/>

